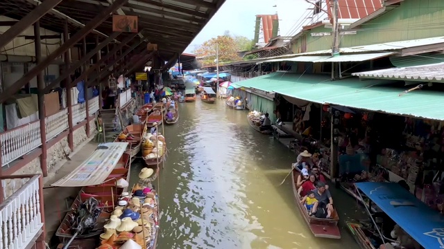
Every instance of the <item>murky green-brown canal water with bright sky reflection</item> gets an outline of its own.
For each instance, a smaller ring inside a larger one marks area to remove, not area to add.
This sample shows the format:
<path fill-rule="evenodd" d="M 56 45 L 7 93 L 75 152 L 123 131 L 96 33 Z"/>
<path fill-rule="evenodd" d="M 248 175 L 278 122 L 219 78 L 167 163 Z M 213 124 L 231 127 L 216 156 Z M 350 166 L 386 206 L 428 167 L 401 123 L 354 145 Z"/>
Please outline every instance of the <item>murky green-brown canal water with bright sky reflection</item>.
<path fill-rule="evenodd" d="M 362 216 L 356 201 L 332 187 L 342 239 L 314 238 L 290 178 L 279 186 L 296 156 L 251 129 L 246 114 L 225 108 L 224 100 L 180 103 L 179 122 L 165 127 L 157 248 L 358 248 L 345 228 Z M 135 163 L 132 176 L 142 167 Z"/>

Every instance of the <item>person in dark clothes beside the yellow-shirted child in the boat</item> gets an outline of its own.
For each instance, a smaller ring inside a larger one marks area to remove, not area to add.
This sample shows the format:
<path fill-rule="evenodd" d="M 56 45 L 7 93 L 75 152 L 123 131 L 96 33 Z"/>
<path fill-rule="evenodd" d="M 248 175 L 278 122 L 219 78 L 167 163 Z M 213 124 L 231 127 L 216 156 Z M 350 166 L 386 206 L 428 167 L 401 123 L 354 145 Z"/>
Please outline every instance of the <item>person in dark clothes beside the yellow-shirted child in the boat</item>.
<path fill-rule="evenodd" d="M 311 216 L 331 219 L 332 213 L 334 211 L 332 194 L 330 194 L 330 191 L 325 189 L 325 183 L 318 182 L 316 184 L 316 187 L 317 188 L 316 190 L 313 190 L 313 193 L 318 202 L 314 203 L 313 210 L 311 210 Z M 305 196 L 304 198 L 306 197 L 307 196 Z M 322 209 L 323 212 L 318 212 L 318 209 Z M 325 211 L 327 215 L 324 217 Z M 316 212 L 318 212 L 318 214 Z"/>

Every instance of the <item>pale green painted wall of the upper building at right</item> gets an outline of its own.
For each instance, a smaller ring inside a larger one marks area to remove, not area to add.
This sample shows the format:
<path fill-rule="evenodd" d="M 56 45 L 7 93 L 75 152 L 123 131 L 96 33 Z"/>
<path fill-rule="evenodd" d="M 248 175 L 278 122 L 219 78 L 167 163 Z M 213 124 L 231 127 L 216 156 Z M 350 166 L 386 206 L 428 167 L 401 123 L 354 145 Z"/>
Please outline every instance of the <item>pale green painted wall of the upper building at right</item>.
<path fill-rule="evenodd" d="M 405 0 L 398 8 L 363 24 L 356 35 L 343 35 L 341 47 L 444 36 L 443 20 L 443 0 Z M 310 30 L 310 33 L 321 32 L 331 32 L 331 29 L 322 26 Z M 294 46 L 292 50 L 297 52 L 301 44 L 298 41 Z M 330 49 L 331 46 L 332 36 L 311 37 L 307 34 L 307 52 Z"/>

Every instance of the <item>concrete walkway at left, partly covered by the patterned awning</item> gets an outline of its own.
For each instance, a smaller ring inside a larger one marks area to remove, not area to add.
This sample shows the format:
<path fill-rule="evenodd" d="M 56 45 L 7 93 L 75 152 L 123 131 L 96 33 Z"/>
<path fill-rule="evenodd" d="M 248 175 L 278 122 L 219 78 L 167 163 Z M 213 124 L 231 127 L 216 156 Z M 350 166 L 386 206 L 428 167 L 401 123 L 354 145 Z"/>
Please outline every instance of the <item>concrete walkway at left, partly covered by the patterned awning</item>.
<path fill-rule="evenodd" d="M 98 144 L 94 138 L 93 140 L 86 141 L 78 147 L 79 149 L 76 149 L 69 155 L 71 160 L 67 160 L 65 163 L 61 162 L 61 167 L 45 178 L 44 187 L 46 188 L 44 188 L 43 194 L 47 243 L 56 234 L 60 222 L 71 208 L 71 203 L 80 191 L 80 187 L 50 187 L 51 184 L 76 169 L 92 154 L 92 151 L 96 149 Z"/>

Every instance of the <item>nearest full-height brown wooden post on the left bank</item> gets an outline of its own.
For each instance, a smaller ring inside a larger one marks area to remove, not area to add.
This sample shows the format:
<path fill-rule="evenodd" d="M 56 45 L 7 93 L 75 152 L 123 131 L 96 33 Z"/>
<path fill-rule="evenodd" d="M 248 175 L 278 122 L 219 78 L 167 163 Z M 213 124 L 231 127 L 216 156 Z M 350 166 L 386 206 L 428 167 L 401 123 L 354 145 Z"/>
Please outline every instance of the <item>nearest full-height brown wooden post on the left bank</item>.
<path fill-rule="evenodd" d="M 34 24 L 34 45 L 35 45 L 35 59 L 37 64 L 42 62 L 42 44 L 40 41 L 40 21 Z M 46 165 L 47 148 L 46 148 L 46 122 L 44 113 L 44 80 L 43 73 L 37 73 L 37 98 L 39 107 L 40 119 L 40 138 L 42 139 L 42 154 L 40 155 L 40 168 L 44 177 L 48 176 L 48 165 Z"/>

